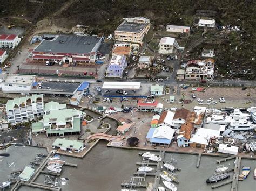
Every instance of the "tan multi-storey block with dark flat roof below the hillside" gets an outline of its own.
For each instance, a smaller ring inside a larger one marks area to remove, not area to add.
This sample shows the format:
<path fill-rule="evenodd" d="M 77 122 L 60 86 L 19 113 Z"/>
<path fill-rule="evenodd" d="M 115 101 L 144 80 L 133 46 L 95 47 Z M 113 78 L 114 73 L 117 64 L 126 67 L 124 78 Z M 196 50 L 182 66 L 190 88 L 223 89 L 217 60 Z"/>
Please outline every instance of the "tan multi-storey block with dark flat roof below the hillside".
<path fill-rule="evenodd" d="M 117 41 L 142 44 L 142 40 L 150 29 L 150 20 L 143 17 L 125 18 L 114 31 Z"/>

